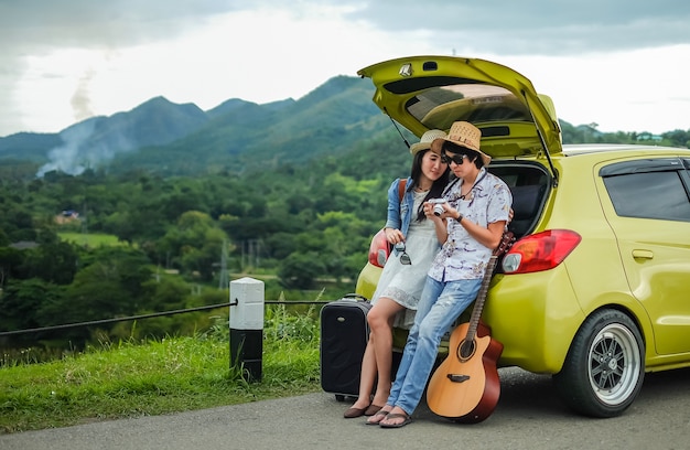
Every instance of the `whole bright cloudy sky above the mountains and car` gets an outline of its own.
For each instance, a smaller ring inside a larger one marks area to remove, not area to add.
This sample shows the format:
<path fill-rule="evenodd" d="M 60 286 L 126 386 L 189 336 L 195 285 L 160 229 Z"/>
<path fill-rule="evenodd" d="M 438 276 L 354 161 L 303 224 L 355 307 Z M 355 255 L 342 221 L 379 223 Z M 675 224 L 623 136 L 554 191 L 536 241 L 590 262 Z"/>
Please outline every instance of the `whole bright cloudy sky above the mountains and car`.
<path fill-rule="evenodd" d="M 508 65 L 573 125 L 688 130 L 689 23 L 687 0 L 0 0 L 0 137 L 157 96 L 299 99 L 414 54 Z"/>

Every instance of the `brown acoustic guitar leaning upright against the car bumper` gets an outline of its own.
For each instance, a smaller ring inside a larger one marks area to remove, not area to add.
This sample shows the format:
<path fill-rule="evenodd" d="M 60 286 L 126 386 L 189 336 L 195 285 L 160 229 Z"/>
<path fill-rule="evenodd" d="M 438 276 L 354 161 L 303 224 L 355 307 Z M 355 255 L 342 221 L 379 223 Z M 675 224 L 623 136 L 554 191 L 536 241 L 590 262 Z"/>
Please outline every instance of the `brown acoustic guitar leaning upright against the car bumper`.
<path fill-rule="evenodd" d="M 488 286 L 498 257 L 510 248 L 511 232 L 503 235 L 492 253 L 470 322 L 451 333 L 449 355 L 435 369 L 427 388 L 427 404 L 434 414 L 457 422 L 477 424 L 494 413 L 500 395 L 496 362 L 503 344 L 481 321 Z"/>

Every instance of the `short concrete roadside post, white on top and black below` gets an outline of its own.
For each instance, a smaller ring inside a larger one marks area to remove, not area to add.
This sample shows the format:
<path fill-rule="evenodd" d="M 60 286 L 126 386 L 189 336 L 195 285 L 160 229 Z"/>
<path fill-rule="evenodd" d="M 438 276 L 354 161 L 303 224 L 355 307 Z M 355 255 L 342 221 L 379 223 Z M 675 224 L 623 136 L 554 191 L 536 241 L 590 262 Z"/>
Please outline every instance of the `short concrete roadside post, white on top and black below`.
<path fill-rule="evenodd" d="M 241 367 L 247 381 L 261 381 L 263 292 L 263 281 L 230 281 L 230 367 Z"/>

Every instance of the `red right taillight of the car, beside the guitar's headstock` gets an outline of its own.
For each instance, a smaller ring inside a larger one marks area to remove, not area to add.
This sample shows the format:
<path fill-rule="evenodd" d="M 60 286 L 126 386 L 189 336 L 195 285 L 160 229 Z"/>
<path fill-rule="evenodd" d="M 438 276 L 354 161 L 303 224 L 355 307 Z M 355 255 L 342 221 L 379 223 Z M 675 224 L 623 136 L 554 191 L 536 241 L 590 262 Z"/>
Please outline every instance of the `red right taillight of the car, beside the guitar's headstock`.
<path fill-rule="evenodd" d="M 558 266 L 580 244 L 582 236 L 570 229 L 549 229 L 525 236 L 503 258 L 505 274 L 528 274 Z"/>

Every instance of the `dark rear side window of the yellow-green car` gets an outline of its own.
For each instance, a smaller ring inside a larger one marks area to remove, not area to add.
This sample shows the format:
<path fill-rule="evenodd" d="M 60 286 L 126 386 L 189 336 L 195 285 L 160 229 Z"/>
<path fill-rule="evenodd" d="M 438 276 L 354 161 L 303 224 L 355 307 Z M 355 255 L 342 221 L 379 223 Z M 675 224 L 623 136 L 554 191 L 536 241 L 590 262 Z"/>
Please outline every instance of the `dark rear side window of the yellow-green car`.
<path fill-rule="evenodd" d="M 625 162 L 600 174 L 619 216 L 690 222 L 690 199 L 681 179 L 684 170 L 679 165 L 678 160 Z"/>

